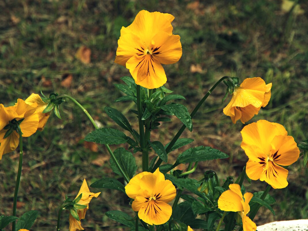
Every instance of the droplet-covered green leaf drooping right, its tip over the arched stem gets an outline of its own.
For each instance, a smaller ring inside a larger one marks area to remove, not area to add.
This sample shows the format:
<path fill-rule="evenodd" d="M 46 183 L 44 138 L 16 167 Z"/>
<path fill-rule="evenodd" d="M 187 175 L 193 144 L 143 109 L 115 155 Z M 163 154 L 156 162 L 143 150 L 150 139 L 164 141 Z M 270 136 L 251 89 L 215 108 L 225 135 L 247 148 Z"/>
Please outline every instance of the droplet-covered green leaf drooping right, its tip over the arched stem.
<path fill-rule="evenodd" d="M 189 115 L 187 108 L 184 105 L 178 103 L 172 103 L 160 106 L 160 108 L 164 111 L 167 111 L 175 115 L 182 121 L 182 123 L 188 128 L 189 131 L 193 131 L 192 119 Z"/>

